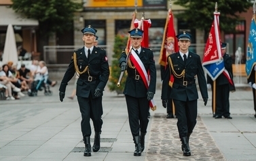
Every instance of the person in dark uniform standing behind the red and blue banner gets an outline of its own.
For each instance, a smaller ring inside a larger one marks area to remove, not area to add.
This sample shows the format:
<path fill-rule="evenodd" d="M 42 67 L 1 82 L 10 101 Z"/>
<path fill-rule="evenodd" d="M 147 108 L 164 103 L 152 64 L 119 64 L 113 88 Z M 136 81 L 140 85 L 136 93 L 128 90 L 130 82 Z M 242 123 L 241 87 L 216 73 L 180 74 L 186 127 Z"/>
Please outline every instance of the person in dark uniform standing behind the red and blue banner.
<path fill-rule="evenodd" d="M 221 54 L 223 57 L 223 62 L 225 69 L 230 74 L 230 78 L 233 82 L 233 70 L 232 70 L 232 57 L 226 53 L 227 43 L 221 43 Z M 235 91 L 234 83 L 230 85 L 227 77 L 221 73 L 216 81 L 216 112 L 215 118 L 225 118 L 232 119 L 230 116 L 230 91 Z M 213 85 L 213 80 L 211 78 L 207 79 L 207 83 Z"/>

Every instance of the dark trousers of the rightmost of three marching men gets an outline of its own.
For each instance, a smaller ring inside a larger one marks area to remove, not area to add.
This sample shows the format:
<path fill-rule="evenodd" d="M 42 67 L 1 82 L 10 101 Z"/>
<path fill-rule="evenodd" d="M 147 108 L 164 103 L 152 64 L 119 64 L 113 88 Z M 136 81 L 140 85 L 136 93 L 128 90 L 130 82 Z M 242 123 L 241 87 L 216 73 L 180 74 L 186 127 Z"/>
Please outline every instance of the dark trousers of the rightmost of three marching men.
<path fill-rule="evenodd" d="M 196 117 L 198 116 L 198 100 L 179 101 L 173 99 L 178 118 L 177 126 L 179 137 L 187 137 L 187 133 L 192 133 L 196 126 Z"/>

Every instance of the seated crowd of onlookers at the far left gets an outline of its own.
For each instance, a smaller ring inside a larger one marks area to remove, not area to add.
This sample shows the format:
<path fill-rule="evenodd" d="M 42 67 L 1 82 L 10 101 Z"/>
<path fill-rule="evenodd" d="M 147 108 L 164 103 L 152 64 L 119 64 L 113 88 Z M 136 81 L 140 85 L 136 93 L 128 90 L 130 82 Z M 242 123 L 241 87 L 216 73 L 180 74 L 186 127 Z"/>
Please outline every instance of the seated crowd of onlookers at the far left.
<path fill-rule="evenodd" d="M 0 66 L 0 89 L 3 93 L 1 99 L 20 99 L 32 91 L 43 90 L 43 88 L 49 90 L 50 86 L 54 87 L 56 83 L 57 81 L 49 80 L 48 68 L 43 61 L 33 60 L 31 66 L 21 64 L 19 69 L 11 61 Z"/>

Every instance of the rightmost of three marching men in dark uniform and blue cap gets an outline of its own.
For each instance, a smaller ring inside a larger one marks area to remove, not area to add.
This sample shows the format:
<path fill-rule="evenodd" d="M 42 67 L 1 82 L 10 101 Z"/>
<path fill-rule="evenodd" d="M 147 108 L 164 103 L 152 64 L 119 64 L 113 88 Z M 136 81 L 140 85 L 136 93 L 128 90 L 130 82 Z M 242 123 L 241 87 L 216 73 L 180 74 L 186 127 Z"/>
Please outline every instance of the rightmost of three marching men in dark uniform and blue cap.
<path fill-rule="evenodd" d="M 190 156 L 189 137 L 196 126 L 196 117 L 198 114 L 198 85 L 204 106 L 208 100 L 206 78 L 202 69 L 200 56 L 188 50 L 191 35 L 183 32 L 177 35 L 179 40 L 179 52 L 172 53 L 167 58 L 167 68 L 162 82 L 162 105 L 167 106 L 168 96 L 172 98 L 175 104 L 176 116 L 178 118 L 177 126 L 179 137 L 181 139 L 181 149 L 183 156 Z M 170 76 L 173 76 L 173 84 L 169 84 Z M 171 85 L 171 89 L 168 87 Z"/>

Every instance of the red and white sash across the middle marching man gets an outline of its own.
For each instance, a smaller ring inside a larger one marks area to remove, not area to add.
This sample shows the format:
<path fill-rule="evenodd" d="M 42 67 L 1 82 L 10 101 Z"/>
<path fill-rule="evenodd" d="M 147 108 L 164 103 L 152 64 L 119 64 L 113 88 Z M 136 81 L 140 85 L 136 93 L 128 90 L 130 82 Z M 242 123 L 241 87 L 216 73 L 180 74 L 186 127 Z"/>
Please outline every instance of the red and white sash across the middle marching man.
<path fill-rule="evenodd" d="M 148 89 L 149 88 L 149 75 L 147 74 L 147 71 L 145 69 L 145 66 L 143 65 L 143 62 L 141 62 L 141 59 L 139 56 L 135 53 L 134 49 L 130 51 L 130 61 L 132 64 L 135 66 L 136 70 L 139 72 L 139 76 L 141 76 L 141 79 L 143 80 L 143 83 L 145 87 Z M 156 103 L 151 99 L 149 101 L 149 107 L 151 110 L 156 110 Z"/>

